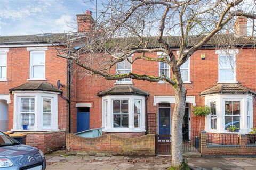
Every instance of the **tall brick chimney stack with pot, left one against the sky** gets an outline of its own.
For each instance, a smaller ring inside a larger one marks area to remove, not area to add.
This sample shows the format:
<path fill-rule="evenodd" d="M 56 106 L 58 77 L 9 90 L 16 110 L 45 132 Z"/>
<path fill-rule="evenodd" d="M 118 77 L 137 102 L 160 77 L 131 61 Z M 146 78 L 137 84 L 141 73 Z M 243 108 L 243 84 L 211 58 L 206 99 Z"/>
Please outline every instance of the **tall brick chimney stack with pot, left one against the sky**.
<path fill-rule="evenodd" d="M 92 12 L 89 10 L 86 10 L 84 14 L 76 15 L 76 21 L 79 33 L 92 31 L 95 22 L 92 17 Z"/>

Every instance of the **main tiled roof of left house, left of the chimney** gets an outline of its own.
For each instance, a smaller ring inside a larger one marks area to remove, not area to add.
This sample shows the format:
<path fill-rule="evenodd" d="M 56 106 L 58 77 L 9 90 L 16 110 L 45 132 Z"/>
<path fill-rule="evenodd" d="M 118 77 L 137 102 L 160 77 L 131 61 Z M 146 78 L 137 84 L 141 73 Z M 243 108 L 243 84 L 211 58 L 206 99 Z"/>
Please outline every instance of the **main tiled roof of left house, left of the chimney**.
<path fill-rule="evenodd" d="M 42 33 L 35 35 L 0 36 L 0 44 L 63 42 L 78 36 L 76 33 Z"/>

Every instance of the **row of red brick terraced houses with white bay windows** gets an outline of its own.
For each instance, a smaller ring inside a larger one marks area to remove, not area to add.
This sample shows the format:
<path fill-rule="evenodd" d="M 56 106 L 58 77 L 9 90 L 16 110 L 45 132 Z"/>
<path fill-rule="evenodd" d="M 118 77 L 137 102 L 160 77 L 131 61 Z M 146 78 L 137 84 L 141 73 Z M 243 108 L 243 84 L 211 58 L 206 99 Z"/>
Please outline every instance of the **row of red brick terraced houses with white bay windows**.
<path fill-rule="evenodd" d="M 256 38 L 248 38 L 241 30 L 246 28 L 244 20 L 236 21 L 237 35 L 223 35 L 231 37 L 237 48 L 219 49 L 212 40 L 181 66 L 187 89 L 183 139 L 193 140 L 194 132 L 200 130 L 247 134 L 256 127 Z M 44 152 L 64 146 L 66 133 L 89 128 L 102 127 L 105 134 L 125 137 L 171 135 L 174 91 L 170 84 L 81 76 L 81 68 L 56 56 L 53 44 L 64 48 L 68 39 L 86 35 L 93 24 L 91 13 L 77 15 L 77 22 L 78 33 L 72 35 L 0 36 L 0 130 L 25 132 L 27 143 Z M 167 38 L 178 51 L 178 36 Z M 138 61 L 131 66 L 123 61 L 115 71 L 170 75 L 169 66 L 162 62 Z M 193 115 L 193 106 L 204 105 L 211 106 L 212 113 L 202 119 L 199 129 L 200 118 Z M 24 124 L 28 130 L 23 129 Z M 228 132 L 230 125 L 239 130 Z"/>

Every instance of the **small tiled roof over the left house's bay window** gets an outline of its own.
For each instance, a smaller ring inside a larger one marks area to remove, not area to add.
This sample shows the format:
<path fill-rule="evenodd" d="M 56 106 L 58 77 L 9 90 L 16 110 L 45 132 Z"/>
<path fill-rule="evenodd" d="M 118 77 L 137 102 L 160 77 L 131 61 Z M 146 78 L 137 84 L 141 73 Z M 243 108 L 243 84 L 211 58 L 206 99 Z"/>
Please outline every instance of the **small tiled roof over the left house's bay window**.
<path fill-rule="evenodd" d="M 20 91 L 39 90 L 39 91 L 63 92 L 62 90 L 54 87 L 52 84 L 49 84 L 46 82 L 28 82 L 10 89 L 10 91 L 17 91 L 17 90 L 20 90 Z"/>

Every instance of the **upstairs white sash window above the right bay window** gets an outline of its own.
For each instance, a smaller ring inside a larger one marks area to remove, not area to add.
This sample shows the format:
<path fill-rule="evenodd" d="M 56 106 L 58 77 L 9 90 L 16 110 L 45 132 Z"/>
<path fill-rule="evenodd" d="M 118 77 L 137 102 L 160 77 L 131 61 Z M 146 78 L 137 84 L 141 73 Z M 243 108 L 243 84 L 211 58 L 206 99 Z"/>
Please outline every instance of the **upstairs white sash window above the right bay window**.
<path fill-rule="evenodd" d="M 219 55 L 219 82 L 236 81 L 234 55 Z"/>

